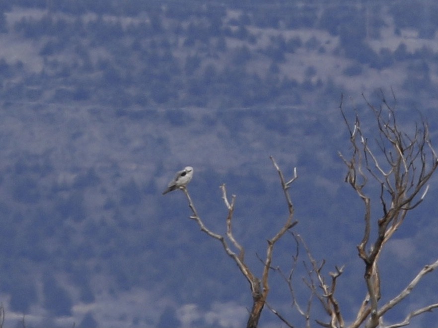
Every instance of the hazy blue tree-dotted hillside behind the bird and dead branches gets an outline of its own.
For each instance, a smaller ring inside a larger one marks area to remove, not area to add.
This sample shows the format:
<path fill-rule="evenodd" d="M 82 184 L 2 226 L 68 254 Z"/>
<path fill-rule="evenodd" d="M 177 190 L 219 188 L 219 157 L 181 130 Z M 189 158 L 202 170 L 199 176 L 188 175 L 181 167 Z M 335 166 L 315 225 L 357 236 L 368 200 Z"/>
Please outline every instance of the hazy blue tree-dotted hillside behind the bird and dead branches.
<path fill-rule="evenodd" d="M 237 195 L 236 238 L 262 269 L 287 217 L 273 155 L 291 189 L 295 231 L 324 273 L 346 265 L 351 321 L 365 296 L 356 245 L 363 208 L 346 185 L 349 117 L 365 97 L 418 112 L 437 142 L 438 5 L 432 1 L 0 1 L 0 301 L 7 327 L 242 327 L 249 285 L 199 231 L 174 173 L 209 228 L 225 231 L 219 186 Z M 382 254 L 382 301 L 438 257 L 437 178 Z M 376 191 L 378 192 L 378 190 Z M 370 190 L 372 193 L 372 190 Z M 376 194 L 374 194 L 376 195 Z M 379 214 L 378 199 L 373 213 Z M 286 236 L 274 265 L 288 271 Z M 300 259 L 304 260 L 301 250 Z M 295 276 L 305 307 L 304 272 Z M 437 301 L 436 275 L 386 322 Z M 286 284 L 269 302 L 297 325 Z M 316 301 L 313 319 L 324 320 Z M 416 327 L 430 327 L 427 314 Z M 267 310 L 262 327 L 281 327 Z"/>

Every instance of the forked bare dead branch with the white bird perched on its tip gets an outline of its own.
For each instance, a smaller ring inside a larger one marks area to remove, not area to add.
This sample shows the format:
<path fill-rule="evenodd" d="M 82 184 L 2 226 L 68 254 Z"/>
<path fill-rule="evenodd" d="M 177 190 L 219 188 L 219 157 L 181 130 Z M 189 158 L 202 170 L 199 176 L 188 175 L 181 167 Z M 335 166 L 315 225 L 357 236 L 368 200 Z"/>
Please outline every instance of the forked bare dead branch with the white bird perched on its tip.
<path fill-rule="evenodd" d="M 243 246 L 234 238 L 233 230 L 232 230 L 232 217 L 234 212 L 234 203 L 235 203 L 235 195 L 231 196 L 231 201 L 229 201 L 225 185 L 223 184 L 220 186 L 220 189 L 222 191 L 222 199 L 225 203 L 225 206 L 228 210 L 227 217 L 225 219 L 226 224 L 226 234 L 225 236 L 219 235 L 210 229 L 208 229 L 204 222 L 202 221 L 200 215 L 198 214 L 198 211 L 195 208 L 195 205 L 192 201 L 192 198 L 190 197 L 190 194 L 186 187 L 181 188 L 186 195 L 189 207 L 192 210 L 192 215 L 190 216 L 191 219 L 195 220 L 199 227 L 201 228 L 201 231 L 205 232 L 210 237 L 219 240 L 219 242 L 222 244 L 223 250 L 225 253 L 231 257 L 234 262 L 236 262 L 238 268 L 240 269 L 240 272 L 244 275 L 244 277 L 248 280 L 250 288 L 251 288 L 251 295 L 253 299 L 253 305 L 252 309 L 249 313 L 249 319 L 247 322 L 247 328 L 256 328 L 260 319 L 260 315 L 262 314 L 262 310 L 266 304 L 266 299 L 269 294 L 269 273 L 271 270 L 271 262 L 272 262 L 272 256 L 274 251 L 275 244 L 285 235 L 286 232 L 288 232 L 293 226 L 295 226 L 298 222 L 294 220 L 293 218 L 293 204 L 291 197 L 289 195 L 289 188 L 291 187 L 292 183 L 297 179 L 296 169 L 293 172 L 293 177 L 289 181 L 286 181 L 282 171 L 280 170 L 278 164 L 276 163 L 275 159 L 271 156 L 271 161 L 274 164 L 274 167 L 276 168 L 279 176 L 280 181 L 283 189 L 283 193 L 286 197 L 286 201 L 288 203 L 288 209 L 289 209 L 289 215 L 286 219 L 285 224 L 280 228 L 280 230 L 273 236 L 271 239 L 268 239 L 268 245 L 266 248 L 266 257 L 264 259 L 264 266 L 261 273 L 261 276 L 257 276 L 253 273 L 253 271 L 248 267 L 248 265 L 245 262 L 245 250 Z M 237 250 L 237 252 L 234 252 L 229 243 Z"/>

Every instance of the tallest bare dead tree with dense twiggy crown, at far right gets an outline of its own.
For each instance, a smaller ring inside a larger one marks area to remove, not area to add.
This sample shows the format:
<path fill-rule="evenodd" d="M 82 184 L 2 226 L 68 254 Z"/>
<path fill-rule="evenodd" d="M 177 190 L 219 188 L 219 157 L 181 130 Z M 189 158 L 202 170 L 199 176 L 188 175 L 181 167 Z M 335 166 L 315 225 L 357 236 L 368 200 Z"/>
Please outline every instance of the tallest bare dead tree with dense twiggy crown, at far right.
<path fill-rule="evenodd" d="M 359 257 L 365 263 L 364 278 L 367 295 L 364 297 L 355 321 L 350 326 L 352 328 L 359 327 L 363 323 L 366 323 L 367 328 L 382 325 L 383 315 L 408 296 L 425 274 L 438 266 L 438 261 L 426 265 L 399 295 L 384 305 L 378 305 L 380 299 L 379 256 L 384 245 L 403 224 L 408 212 L 424 200 L 429 190 L 428 181 L 437 169 L 438 158 L 431 144 L 428 125 L 424 120 L 420 125 L 415 126 L 412 134 L 408 134 L 402 131 L 396 121 L 395 107 L 390 106 L 384 97 L 382 105 L 378 108 L 367 101 L 366 103 L 376 121 L 375 144 L 378 153 L 371 146 L 372 141 L 366 137 L 362 129 L 358 112 L 356 111 L 356 118 L 351 123 L 343 110 L 342 100 L 340 104 L 353 149 L 349 158 L 339 153 L 348 168 L 345 181 L 352 186 L 365 207 L 365 229 L 357 249 Z M 377 220 L 371 215 L 371 197 L 365 192 L 365 187 L 370 185 L 370 181 L 379 186 L 382 215 Z M 373 228 L 376 229 L 377 236 L 371 241 Z M 409 323 L 410 318 L 437 307 L 438 304 L 432 304 L 413 311 L 403 323 L 392 327 L 404 326 Z M 338 326 L 342 327 L 340 322 Z"/>

